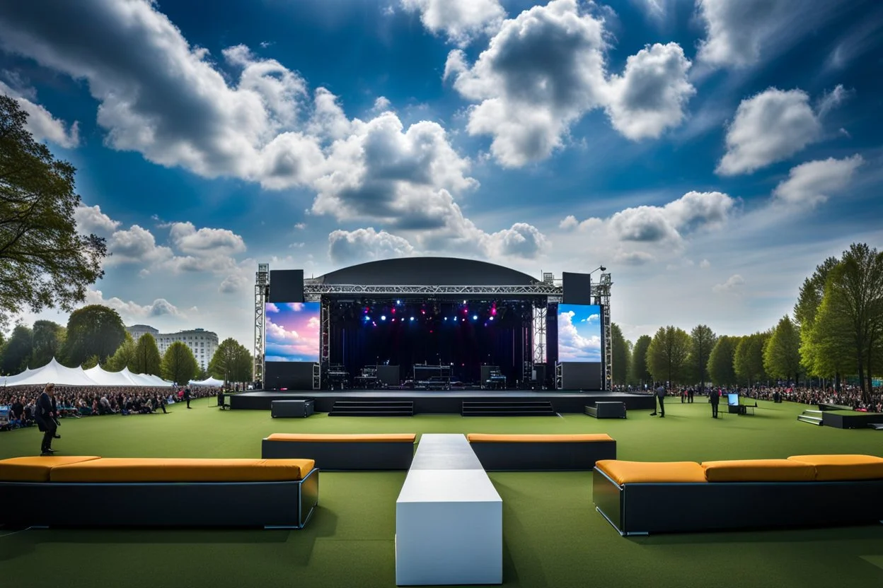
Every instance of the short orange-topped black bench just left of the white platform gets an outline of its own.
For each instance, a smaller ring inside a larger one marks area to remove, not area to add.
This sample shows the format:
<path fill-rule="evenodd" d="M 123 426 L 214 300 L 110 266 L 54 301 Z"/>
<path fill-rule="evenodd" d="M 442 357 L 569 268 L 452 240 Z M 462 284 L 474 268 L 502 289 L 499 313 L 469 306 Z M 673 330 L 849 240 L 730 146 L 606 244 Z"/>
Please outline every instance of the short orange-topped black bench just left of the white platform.
<path fill-rule="evenodd" d="M 309 458 L 322 470 L 407 470 L 417 435 L 274 433 L 261 442 L 260 457 Z"/>

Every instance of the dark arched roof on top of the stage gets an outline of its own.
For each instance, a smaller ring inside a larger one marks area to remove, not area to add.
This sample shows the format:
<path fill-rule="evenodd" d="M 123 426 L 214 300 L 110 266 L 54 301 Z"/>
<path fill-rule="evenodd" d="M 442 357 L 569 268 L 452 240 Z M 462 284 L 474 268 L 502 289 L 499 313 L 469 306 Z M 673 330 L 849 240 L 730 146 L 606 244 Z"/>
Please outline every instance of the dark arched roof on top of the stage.
<path fill-rule="evenodd" d="M 502 265 L 474 259 L 399 257 L 351 265 L 314 281 L 362 286 L 530 286 L 540 280 Z"/>

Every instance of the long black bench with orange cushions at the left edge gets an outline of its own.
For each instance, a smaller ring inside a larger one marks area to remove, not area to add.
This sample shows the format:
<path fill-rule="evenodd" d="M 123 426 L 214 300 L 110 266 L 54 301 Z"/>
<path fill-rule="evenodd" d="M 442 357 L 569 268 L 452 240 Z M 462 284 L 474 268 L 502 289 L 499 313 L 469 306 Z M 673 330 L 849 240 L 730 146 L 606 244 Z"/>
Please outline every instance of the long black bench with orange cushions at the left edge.
<path fill-rule="evenodd" d="M 312 459 L 35 457 L 0 460 L 10 526 L 303 528 L 319 502 Z"/>

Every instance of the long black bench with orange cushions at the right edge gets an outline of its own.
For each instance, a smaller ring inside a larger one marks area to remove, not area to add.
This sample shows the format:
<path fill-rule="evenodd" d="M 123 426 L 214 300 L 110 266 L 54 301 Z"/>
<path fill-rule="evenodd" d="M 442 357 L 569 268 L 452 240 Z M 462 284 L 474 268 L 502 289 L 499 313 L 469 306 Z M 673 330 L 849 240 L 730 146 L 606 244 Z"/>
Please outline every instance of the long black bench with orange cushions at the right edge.
<path fill-rule="evenodd" d="M 739 461 L 599 461 L 597 510 L 623 535 L 883 520 L 883 458 L 803 455 Z"/>

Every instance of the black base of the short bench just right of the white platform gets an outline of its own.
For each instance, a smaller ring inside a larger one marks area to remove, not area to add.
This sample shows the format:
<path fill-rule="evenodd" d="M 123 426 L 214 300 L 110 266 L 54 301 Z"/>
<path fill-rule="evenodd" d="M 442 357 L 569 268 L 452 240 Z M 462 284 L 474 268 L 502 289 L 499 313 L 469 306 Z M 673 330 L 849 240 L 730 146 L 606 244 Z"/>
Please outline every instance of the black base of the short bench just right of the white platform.
<path fill-rule="evenodd" d="M 591 470 L 599 459 L 616 458 L 615 441 L 472 443 L 488 472 Z"/>

